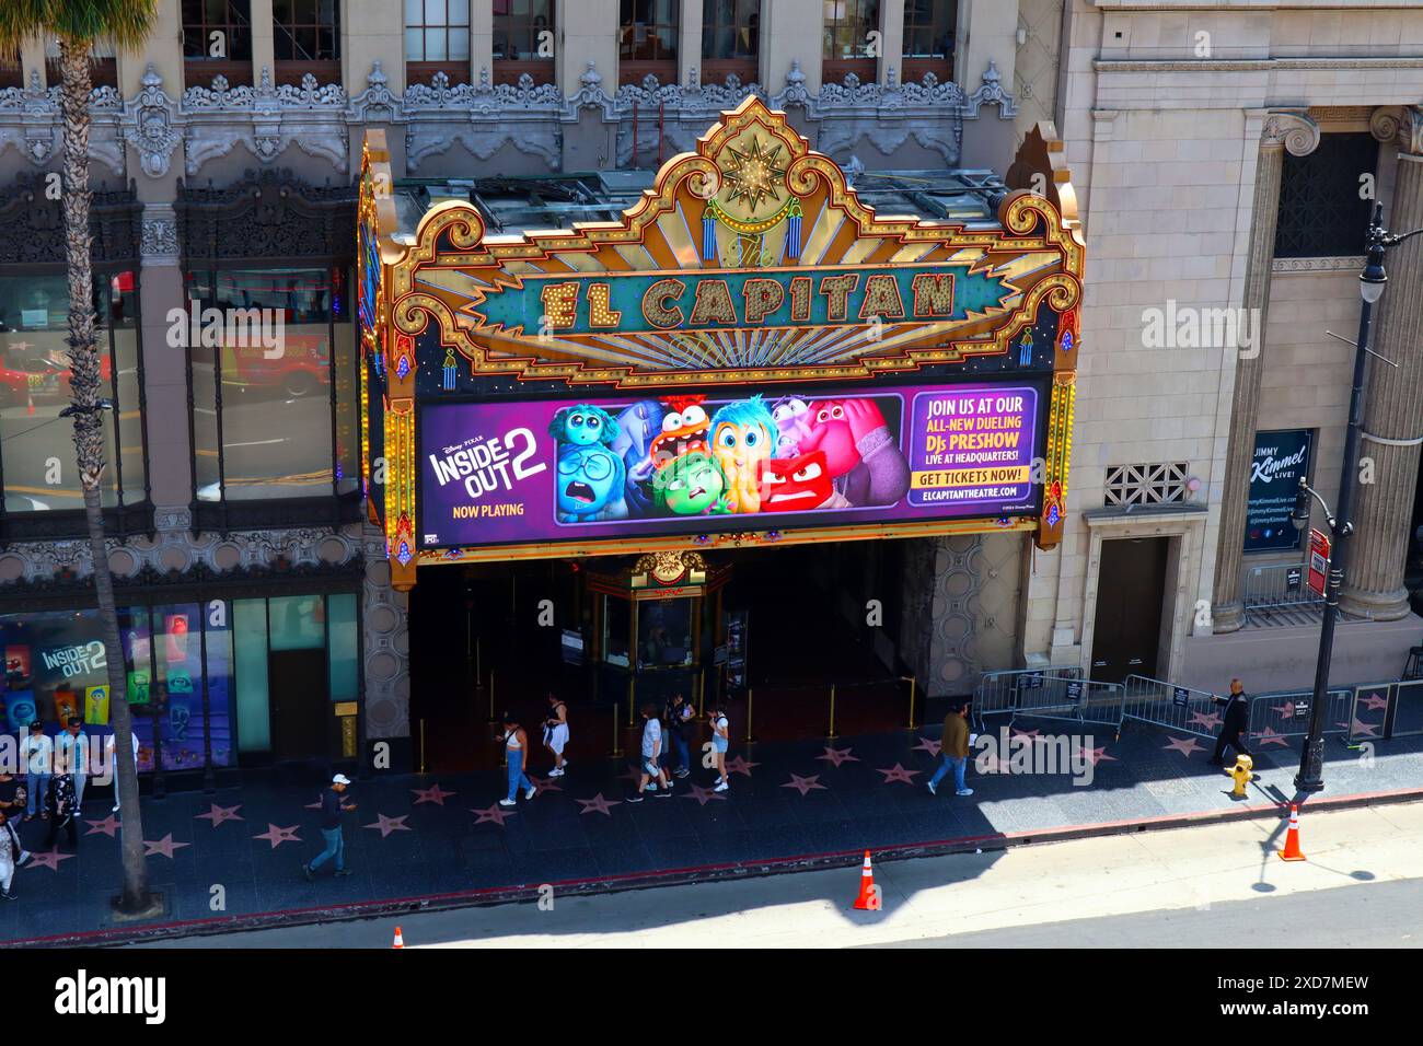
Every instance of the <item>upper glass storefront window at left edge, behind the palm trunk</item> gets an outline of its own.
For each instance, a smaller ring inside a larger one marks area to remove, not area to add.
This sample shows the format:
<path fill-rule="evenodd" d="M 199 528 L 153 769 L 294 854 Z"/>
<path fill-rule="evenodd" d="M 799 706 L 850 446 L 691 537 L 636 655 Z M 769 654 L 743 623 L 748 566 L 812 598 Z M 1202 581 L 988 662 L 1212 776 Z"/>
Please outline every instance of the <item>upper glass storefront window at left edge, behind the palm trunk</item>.
<path fill-rule="evenodd" d="M 94 280 L 100 397 L 112 401 L 104 430 L 102 502 L 144 501 L 139 413 L 138 283 L 118 272 Z M 60 275 L 0 276 L 0 465 L 4 509 L 80 509 L 70 403 L 68 287 Z"/>

